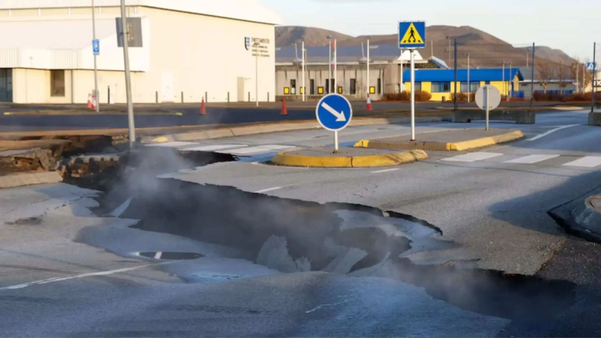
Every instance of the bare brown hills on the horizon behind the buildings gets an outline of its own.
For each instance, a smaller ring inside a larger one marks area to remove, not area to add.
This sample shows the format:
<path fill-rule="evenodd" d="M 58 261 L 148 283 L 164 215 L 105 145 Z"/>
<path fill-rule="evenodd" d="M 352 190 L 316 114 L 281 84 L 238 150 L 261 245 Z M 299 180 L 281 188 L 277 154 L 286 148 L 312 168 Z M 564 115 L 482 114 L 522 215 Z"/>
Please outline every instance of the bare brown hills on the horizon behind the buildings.
<path fill-rule="evenodd" d="M 358 46 L 368 39 L 371 45 L 396 45 L 398 35 L 360 35 L 352 37 L 339 32 L 326 29 L 303 26 L 276 26 L 275 43 L 277 47 L 287 47 L 294 43 L 305 41 L 305 46 L 327 46 L 328 35 L 337 39 L 338 46 Z M 454 65 L 453 41 L 457 40 L 457 64 L 459 67 L 470 66 L 497 67 L 505 64 L 506 67 L 525 67 L 532 64 L 531 45 L 511 45 L 494 35 L 481 31 L 471 26 L 428 26 L 426 48 L 421 49 L 423 57 L 435 56 L 448 66 Z M 451 43 L 451 45 L 449 45 Z M 569 57 L 559 49 L 546 46 L 536 46 L 535 57 L 537 60 L 547 61 L 557 66 L 568 66 L 576 60 Z"/>

